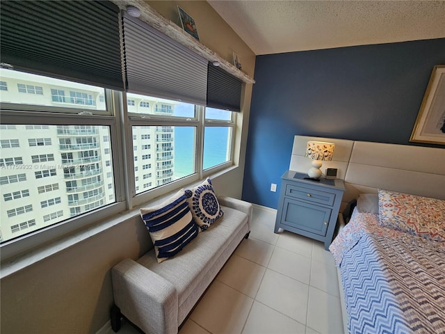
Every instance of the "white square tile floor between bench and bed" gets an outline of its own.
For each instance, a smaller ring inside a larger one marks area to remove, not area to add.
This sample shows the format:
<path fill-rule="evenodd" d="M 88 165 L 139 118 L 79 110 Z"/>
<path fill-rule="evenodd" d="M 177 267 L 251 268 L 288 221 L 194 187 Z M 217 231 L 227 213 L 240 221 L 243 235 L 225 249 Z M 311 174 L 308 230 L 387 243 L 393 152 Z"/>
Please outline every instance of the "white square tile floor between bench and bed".
<path fill-rule="evenodd" d="M 320 241 L 275 234 L 275 216 L 254 207 L 249 239 L 236 248 L 179 334 L 343 333 L 334 258 Z M 123 322 L 119 333 L 138 332 Z"/>

